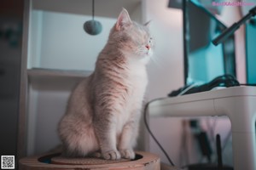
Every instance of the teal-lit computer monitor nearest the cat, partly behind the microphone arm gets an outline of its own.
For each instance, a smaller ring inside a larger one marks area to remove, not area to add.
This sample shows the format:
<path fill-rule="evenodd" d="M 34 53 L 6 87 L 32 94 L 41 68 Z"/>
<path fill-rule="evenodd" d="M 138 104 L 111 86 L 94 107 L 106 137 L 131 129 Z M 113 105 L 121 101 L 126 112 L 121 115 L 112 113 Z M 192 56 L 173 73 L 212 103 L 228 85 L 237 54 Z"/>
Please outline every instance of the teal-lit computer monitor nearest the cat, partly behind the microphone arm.
<path fill-rule="evenodd" d="M 212 39 L 218 37 L 226 26 L 197 1 L 187 1 L 185 7 L 185 84 L 209 82 L 224 74 L 236 77 L 234 36 L 229 37 L 223 44 L 214 46 Z"/>

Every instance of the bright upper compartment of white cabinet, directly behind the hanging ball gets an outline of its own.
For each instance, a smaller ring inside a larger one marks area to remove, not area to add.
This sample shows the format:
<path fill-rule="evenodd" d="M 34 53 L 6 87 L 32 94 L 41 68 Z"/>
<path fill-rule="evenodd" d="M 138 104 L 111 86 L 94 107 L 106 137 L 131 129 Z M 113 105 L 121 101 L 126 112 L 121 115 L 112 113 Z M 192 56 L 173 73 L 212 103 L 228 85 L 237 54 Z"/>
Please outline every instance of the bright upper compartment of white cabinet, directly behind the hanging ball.
<path fill-rule="evenodd" d="M 30 67 L 93 71 L 116 20 L 96 17 L 103 26 L 97 36 L 83 30 L 87 20 L 91 17 L 33 10 Z"/>

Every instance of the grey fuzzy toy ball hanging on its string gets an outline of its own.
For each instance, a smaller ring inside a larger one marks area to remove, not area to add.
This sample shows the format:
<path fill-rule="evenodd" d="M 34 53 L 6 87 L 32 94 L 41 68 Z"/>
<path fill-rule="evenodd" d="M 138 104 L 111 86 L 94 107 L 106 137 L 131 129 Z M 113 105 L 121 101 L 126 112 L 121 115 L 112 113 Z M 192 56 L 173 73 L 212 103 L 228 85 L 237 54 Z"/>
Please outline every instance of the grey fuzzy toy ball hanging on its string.
<path fill-rule="evenodd" d="M 102 32 L 102 23 L 94 20 L 94 0 L 92 0 L 92 20 L 88 20 L 84 23 L 84 31 L 92 36 Z"/>

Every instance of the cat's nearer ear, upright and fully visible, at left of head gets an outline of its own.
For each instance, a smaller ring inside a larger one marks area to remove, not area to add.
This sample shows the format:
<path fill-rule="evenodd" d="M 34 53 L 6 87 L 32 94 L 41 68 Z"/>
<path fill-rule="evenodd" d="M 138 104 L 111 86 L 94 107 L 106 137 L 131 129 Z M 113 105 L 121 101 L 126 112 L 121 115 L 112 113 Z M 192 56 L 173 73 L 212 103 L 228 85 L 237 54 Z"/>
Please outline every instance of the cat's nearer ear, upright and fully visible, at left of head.
<path fill-rule="evenodd" d="M 119 18 L 115 24 L 115 29 L 120 31 L 125 26 L 131 25 L 130 16 L 125 8 L 122 9 L 121 13 L 119 14 Z"/>

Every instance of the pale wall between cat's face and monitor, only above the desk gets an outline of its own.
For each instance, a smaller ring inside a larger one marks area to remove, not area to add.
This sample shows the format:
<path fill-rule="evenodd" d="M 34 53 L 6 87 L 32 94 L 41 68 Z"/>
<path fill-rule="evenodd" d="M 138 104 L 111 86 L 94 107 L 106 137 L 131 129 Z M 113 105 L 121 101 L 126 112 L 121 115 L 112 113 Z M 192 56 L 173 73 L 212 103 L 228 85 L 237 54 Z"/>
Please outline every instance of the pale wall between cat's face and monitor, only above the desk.
<path fill-rule="evenodd" d="M 145 1 L 145 20 L 152 20 L 154 61 L 148 65 L 148 99 L 165 97 L 183 86 L 182 12 L 167 8 L 167 0 Z"/>

